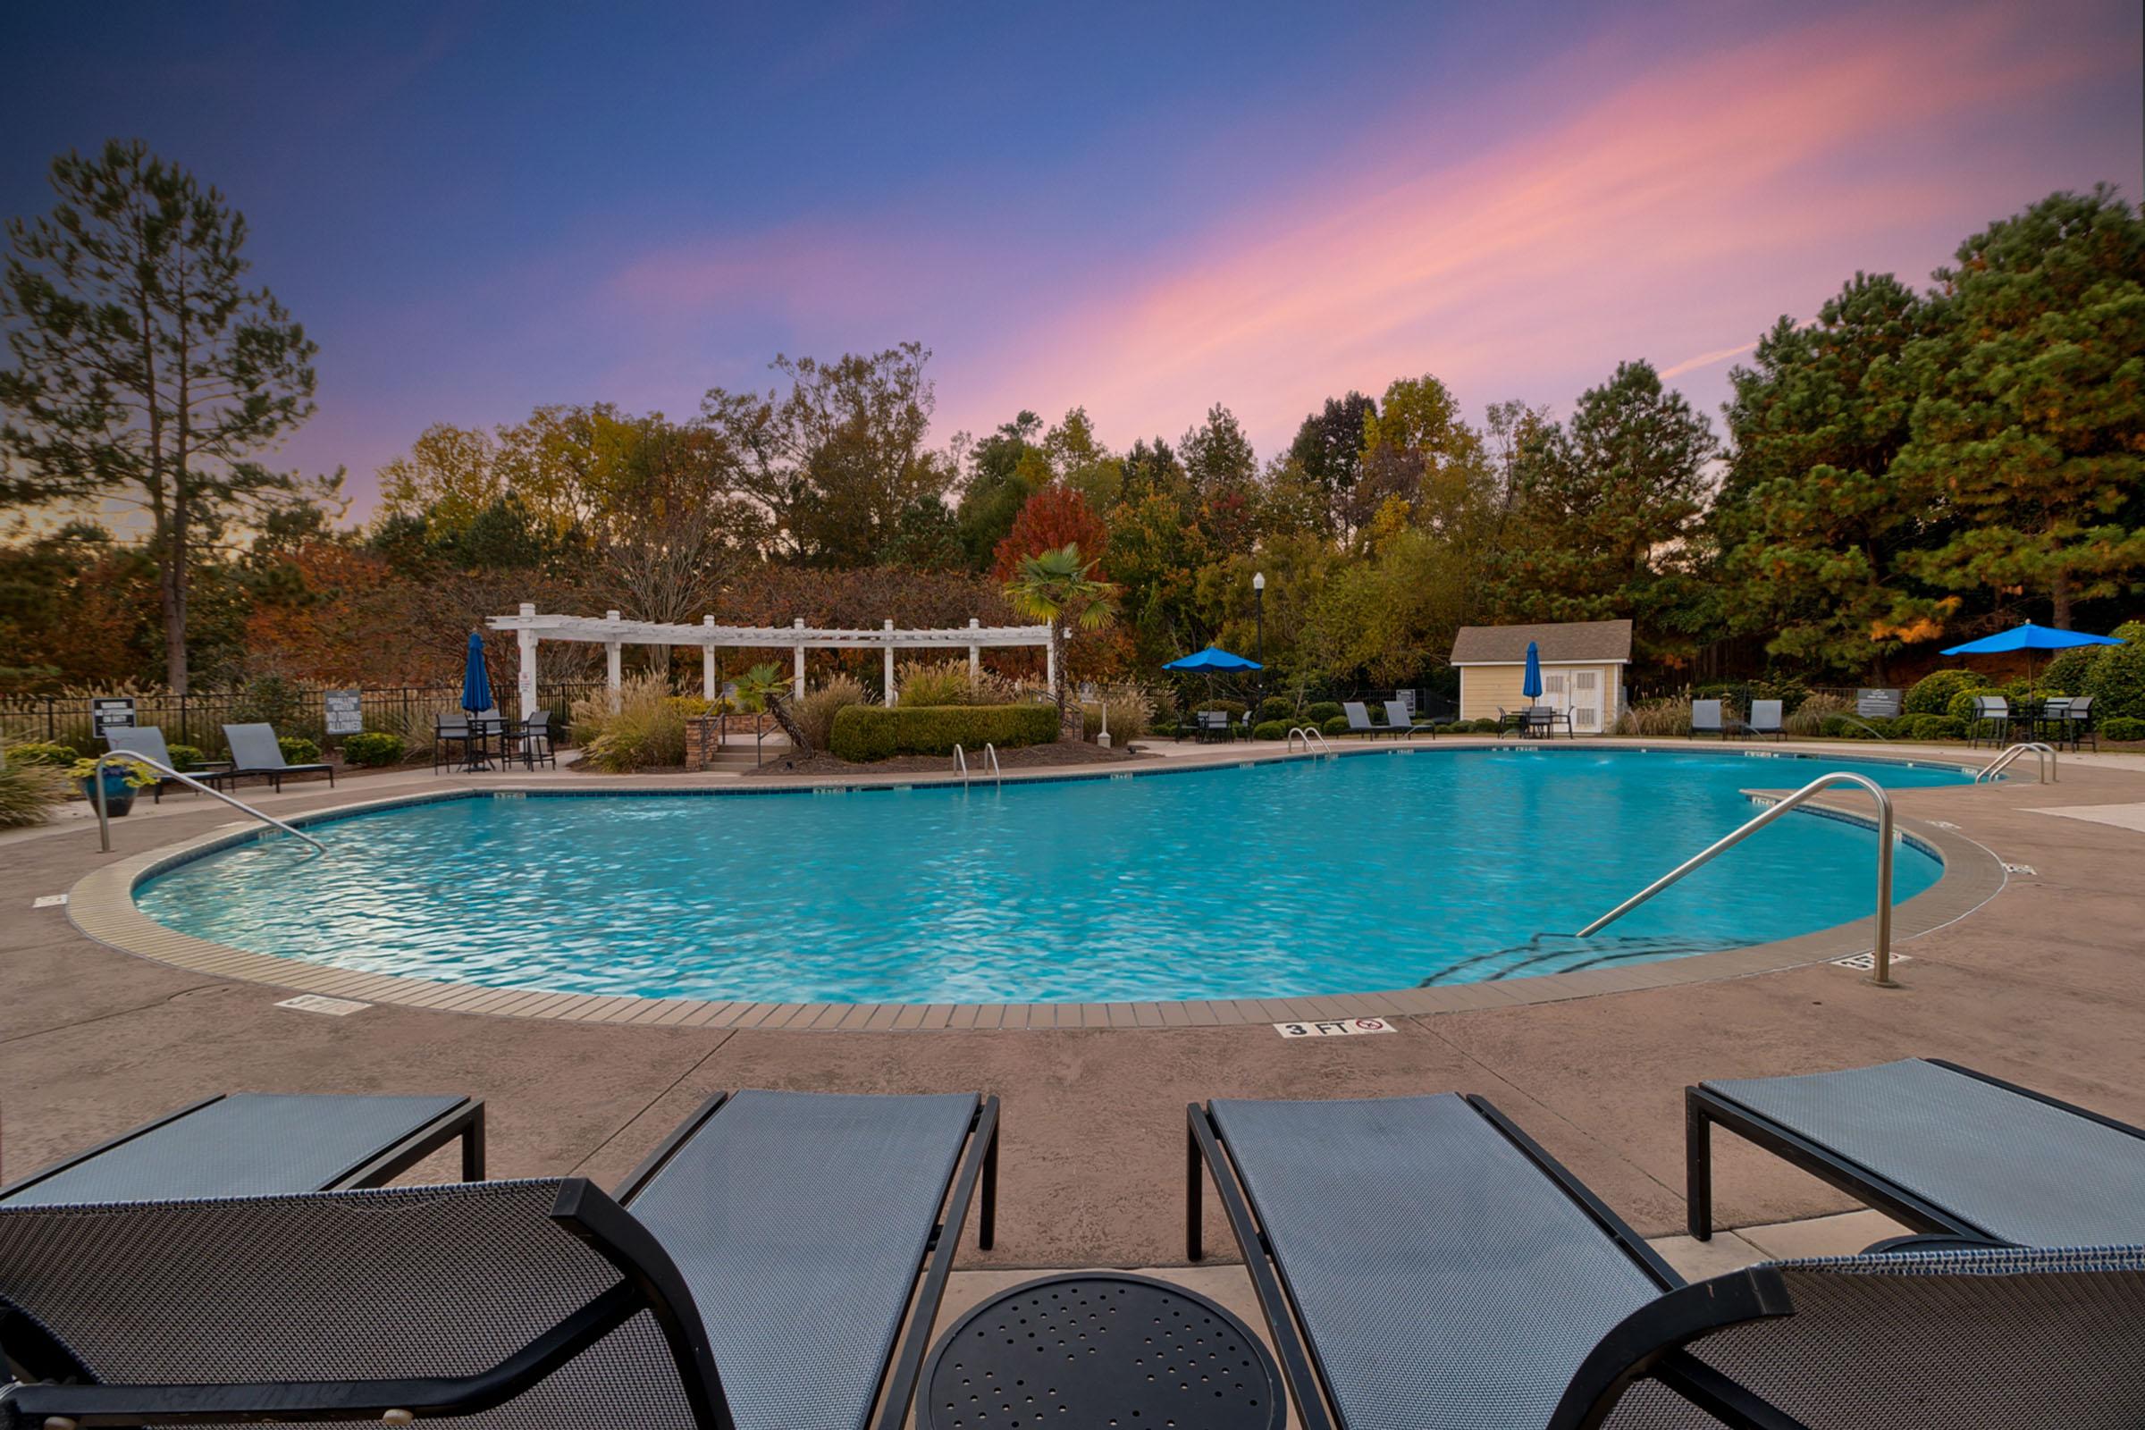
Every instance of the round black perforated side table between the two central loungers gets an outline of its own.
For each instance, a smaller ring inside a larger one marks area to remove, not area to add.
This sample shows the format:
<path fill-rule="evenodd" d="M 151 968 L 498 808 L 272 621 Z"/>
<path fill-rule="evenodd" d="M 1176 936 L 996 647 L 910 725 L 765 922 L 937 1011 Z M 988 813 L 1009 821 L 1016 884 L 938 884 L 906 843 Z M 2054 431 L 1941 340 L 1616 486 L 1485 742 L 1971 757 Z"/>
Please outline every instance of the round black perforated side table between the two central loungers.
<path fill-rule="evenodd" d="M 1214 1301 L 1148 1276 L 1083 1271 L 1002 1291 L 924 1366 L 929 1430 L 1281 1430 L 1272 1353 Z"/>

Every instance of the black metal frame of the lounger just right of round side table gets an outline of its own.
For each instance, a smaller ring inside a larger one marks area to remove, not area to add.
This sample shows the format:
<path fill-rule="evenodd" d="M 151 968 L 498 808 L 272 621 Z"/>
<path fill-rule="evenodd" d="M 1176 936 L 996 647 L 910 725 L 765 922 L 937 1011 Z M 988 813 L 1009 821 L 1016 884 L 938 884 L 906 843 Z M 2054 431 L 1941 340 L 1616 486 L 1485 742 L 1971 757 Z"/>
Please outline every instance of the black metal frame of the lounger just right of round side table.
<path fill-rule="evenodd" d="M 1802 1430 L 1798 1421 L 1765 1400 L 1752 1396 L 1697 1357 L 1682 1353 L 1692 1340 L 1729 1325 L 1759 1316 L 1793 1314 L 1793 1301 L 1776 1271 L 1750 1267 L 1733 1276 L 1714 1278 L 1703 1286 L 1686 1286 L 1675 1269 L 1645 1243 L 1645 1237 L 1632 1231 L 1600 1196 L 1549 1156 L 1510 1117 L 1499 1113 L 1489 1098 L 1469 1093 L 1467 1106 L 1585 1211 L 1600 1226 L 1602 1235 L 1662 1291 L 1656 1301 L 1639 1308 L 1596 1344 L 1566 1387 L 1549 1430 L 1583 1430 L 1602 1424 L 1624 1391 L 1643 1379 L 1660 1381 L 1733 1430 Z M 1236 1235 L 1236 1243 L 1244 1254 L 1244 1269 L 1251 1273 L 1253 1291 L 1259 1297 L 1259 1312 L 1266 1316 L 1266 1329 L 1274 1342 L 1281 1372 L 1296 1398 L 1298 1426 L 1302 1430 L 1334 1430 L 1332 1387 L 1311 1338 L 1302 1331 L 1296 1293 L 1289 1289 L 1289 1271 L 1274 1258 L 1266 1233 L 1259 1231 L 1257 1198 L 1253 1198 L 1248 1183 L 1236 1175 L 1236 1164 L 1227 1153 L 1227 1138 L 1214 1119 L 1212 1106 L 1193 1102 L 1186 1108 L 1186 1121 L 1184 1250 L 1190 1261 L 1203 1256 L 1201 1173 L 1212 1173 L 1229 1231 Z"/>

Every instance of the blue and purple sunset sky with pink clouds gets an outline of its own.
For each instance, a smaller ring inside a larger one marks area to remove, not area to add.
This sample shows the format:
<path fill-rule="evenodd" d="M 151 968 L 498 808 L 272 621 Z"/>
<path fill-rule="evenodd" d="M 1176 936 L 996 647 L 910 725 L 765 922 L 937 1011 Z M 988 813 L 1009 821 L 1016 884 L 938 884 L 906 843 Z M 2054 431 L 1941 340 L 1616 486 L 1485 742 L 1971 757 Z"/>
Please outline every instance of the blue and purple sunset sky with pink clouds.
<path fill-rule="evenodd" d="M 920 341 L 933 442 L 1236 412 L 1261 457 L 1435 373 L 1718 416 L 1772 322 L 1926 283 L 2057 189 L 2145 193 L 2136 0 L 15 6 L 0 217 L 142 137 L 320 343 L 279 461 L 431 422 L 674 418 Z"/>

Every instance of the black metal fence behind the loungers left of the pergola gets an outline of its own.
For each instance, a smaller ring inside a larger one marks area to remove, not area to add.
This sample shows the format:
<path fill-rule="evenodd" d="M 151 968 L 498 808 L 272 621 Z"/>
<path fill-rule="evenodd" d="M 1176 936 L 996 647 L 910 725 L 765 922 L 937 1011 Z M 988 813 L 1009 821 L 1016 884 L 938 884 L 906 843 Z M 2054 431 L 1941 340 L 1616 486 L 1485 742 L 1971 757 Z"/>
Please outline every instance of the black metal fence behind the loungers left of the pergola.
<path fill-rule="evenodd" d="M 603 690 L 598 680 L 564 680 L 536 686 L 536 705 L 553 712 L 551 729 L 564 740 L 566 712 L 573 701 Z M 500 697 L 500 712 L 521 718 L 521 701 L 513 686 L 493 686 Z M 135 703 L 135 725 L 154 725 L 163 731 L 165 744 L 191 744 L 208 757 L 223 753 L 223 727 L 257 720 L 264 714 L 279 735 L 305 735 L 322 748 L 330 748 L 335 738 L 326 733 L 328 712 L 322 688 L 298 686 L 294 701 L 281 712 L 264 712 L 245 690 L 206 690 L 199 695 L 131 692 Z M 433 712 L 457 710 L 461 686 L 384 686 L 358 690 L 358 712 L 365 729 L 390 731 L 397 735 L 418 735 L 431 725 Z M 92 755 L 101 746 L 90 718 L 90 697 L 86 695 L 6 695 L 0 692 L 0 744 L 26 740 L 49 740 Z"/>

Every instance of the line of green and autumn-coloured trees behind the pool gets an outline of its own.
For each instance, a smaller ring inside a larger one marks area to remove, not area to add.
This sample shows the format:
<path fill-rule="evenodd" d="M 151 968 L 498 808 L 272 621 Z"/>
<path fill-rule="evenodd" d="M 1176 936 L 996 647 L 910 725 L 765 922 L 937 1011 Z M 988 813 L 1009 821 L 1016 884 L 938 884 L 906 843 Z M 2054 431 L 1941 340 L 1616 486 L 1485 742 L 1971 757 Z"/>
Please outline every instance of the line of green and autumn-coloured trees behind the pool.
<path fill-rule="evenodd" d="M 1855 274 L 1782 317 L 1718 424 L 1630 360 L 1562 416 L 1482 422 L 1405 375 L 1266 459 L 1225 405 L 1124 450 L 1083 407 L 935 446 L 931 354 L 905 343 L 779 356 L 768 388 L 676 418 L 429 427 L 363 525 L 339 476 L 266 461 L 311 409 L 313 345 L 247 287 L 242 217 L 139 146 L 66 157 L 54 187 L 0 283 L 13 686 L 431 680 L 519 600 L 997 622 L 1019 562 L 1066 545 L 1118 611 L 1075 673 L 1259 643 L 1270 684 L 1315 692 L 1435 680 L 1461 624 L 1609 617 L 1641 677 L 1896 680 L 2014 620 L 2113 626 L 2145 590 L 2145 221 L 2104 187 L 1991 223 L 1924 287 Z M 94 519 L 112 500 L 146 538 Z"/>

